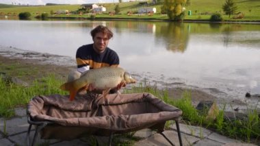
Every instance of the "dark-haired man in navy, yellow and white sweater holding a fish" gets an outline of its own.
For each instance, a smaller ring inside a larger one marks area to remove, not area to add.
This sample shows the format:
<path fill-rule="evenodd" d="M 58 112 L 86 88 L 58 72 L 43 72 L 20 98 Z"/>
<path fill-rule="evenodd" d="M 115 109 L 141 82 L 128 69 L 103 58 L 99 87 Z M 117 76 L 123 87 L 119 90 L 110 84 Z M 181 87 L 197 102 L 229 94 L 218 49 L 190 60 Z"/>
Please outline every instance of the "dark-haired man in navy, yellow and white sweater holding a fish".
<path fill-rule="evenodd" d="M 113 37 L 113 32 L 107 27 L 99 25 L 92 29 L 90 34 L 93 43 L 83 45 L 77 49 L 77 71 L 68 75 L 68 82 L 79 78 L 81 73 L 89 69 L 97 69 L 104 66 L 119 66 L 118 54 L 107 47 L 110 38 Z M 94 90 L 94 87 L 90 85 L 88 90 Z"/>

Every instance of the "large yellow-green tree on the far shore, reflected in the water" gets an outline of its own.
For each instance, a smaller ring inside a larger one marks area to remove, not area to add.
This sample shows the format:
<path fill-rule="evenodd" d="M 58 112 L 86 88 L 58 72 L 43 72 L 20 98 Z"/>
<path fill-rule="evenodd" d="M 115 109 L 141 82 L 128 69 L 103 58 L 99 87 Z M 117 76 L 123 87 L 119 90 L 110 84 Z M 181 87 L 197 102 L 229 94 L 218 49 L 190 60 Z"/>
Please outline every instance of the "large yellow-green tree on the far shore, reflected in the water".
<path fill-rule="evenodd" d="M 185 12 L 183 6 L 187 0 L 165 0 L 161 7 L 163 12 L 166 12 L 169 19 L 172 21 L 179 21 L 184 18 Z"/>

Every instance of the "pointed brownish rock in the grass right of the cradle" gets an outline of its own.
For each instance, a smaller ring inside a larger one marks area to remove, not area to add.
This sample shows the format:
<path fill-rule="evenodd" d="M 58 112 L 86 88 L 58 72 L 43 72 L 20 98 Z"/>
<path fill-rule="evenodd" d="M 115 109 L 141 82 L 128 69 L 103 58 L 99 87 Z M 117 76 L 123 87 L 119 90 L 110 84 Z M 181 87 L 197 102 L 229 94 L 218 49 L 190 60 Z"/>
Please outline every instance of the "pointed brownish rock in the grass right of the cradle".
<path fill-rule="evenodd" d="M 219 109 L 215 101 L 200 101 L 196 107 L 200 114 L 206 116 L 206 119 L 215 120 L 218 116 Z"/>

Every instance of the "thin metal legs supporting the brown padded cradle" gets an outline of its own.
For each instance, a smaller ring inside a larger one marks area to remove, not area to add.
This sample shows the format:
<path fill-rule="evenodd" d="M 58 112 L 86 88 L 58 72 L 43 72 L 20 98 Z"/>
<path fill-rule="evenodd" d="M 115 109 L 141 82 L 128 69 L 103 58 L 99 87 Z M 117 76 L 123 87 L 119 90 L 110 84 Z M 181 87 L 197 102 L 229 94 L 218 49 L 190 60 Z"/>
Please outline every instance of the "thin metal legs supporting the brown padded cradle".
<path fill-rule="evenodd" d="M 27 121 L 29 123 L 29 127 L 27 130 L 27 146 L 34 146 L 36 144 L 36 139 L 38 138 L 38 134 L 40 132 L 40 130 L 42 130 L 43 127 L 49 125 L 49 124 L 54 124 L 53 122 L 49 122 L 49 121 L 31 121 L 31 117 L 28 115 L 27 116 Z M 176 127 L 177 127 L 177 133 L 178 133 L 178 137 L 179 137 L 179 144 L 180 146 L 183 146 L 182 140 L 181 140 L 181 130 L 179 127 L 179 118 L 178 119 L 174 119 L 175 123 L 176 123 Z M 29 135 L 31 132 L 31 126 L 32 125 L 36 125 L 36 130 L 34 133 L 34 138 L 32 141 L 30 141 Z M 166 138 L 166 140 L 170 143 L 170 145 L 174 144 L 170 141 L 170 139 L 162 132 L 158 132 L 159 134 L 161 134 L 162 136 L 164 136 L 164 138 Z M 109 141 L 107 143 L 107 145 L 111 146 L 112 145 L 112 139 L 113 139 L 114 134 L 111 132 L 109 135 Z"/>

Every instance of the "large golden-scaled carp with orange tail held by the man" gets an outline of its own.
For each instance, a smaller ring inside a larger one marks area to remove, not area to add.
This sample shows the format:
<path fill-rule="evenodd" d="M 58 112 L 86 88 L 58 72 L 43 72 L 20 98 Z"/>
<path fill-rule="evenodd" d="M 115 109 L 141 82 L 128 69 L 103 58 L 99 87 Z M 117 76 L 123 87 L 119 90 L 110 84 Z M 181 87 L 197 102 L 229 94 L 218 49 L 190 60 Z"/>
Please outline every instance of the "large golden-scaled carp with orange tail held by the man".
<path fill-rule="evenodd" d="M 72 101 L 79 89 L 88 90 L 90 84 L 96 90 L 103 90 L 105 96 L 112 88 L 120 88 L 122 85 L 135 82 L 135 79 L 120 67 L 102 67 L 86 71 L 79 79 L 66 82 L 60 88 L 70 91 L 70 101 Z"/>

